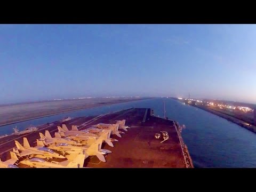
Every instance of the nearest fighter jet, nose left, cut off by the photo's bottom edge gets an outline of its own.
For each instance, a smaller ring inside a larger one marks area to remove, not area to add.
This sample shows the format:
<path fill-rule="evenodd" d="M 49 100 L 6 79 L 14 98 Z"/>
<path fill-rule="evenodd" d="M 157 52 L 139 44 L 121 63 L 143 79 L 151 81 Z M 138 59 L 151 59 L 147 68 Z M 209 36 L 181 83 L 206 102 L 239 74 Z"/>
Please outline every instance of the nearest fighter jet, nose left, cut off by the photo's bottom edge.
<path fill-rule="evenodd" d="M 84 165 L 85 154 L 78 154 L 74 161 L 47 162 L 42 158 L 31 158 L 21 161 L 20 163 L 37 168 L 82 168 Z"/>

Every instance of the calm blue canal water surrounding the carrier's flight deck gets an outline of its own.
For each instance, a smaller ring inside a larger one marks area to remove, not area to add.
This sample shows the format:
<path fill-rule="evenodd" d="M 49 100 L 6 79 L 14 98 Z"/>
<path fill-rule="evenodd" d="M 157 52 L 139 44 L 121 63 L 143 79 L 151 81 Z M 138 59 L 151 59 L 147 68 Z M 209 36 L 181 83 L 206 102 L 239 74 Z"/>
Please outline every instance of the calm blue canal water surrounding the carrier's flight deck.
<path fill-rule="evenodd" d="M 256 167 L 256 134 L 207 111 L 184 105 L 170 98 L 118 103 L 70 113 L 33 119 L 1 126 L 0 135 L 10 134 L 17 125 L 23 130 L 29 125 L 58 121 L 65 116 L 79 117 L 100 115 L 131 107 L 153 108 L 155 115 L 166 116 L 185 124 L 182 137 L 188 146 L 195 167 Z"/>

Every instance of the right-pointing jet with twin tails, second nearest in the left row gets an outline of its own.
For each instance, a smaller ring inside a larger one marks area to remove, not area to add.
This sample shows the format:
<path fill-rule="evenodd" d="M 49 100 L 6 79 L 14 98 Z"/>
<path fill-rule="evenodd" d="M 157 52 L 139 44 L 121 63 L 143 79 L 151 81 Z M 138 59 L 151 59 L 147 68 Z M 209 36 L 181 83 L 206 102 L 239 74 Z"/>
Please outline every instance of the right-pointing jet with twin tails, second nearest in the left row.
<path fill-rule="evenodd" d="M 27 138 L 23 138 L 23 146 L 15 140 L 15 145 L 17 146 L 17 149 L 22 151 L 21 153 L 18 153 L 18 156 L 27 156 L 27 155 L 33 155 L 38 158 L 65 158 L 64 156 L 55 153 L 53 150 L 46 148 L 46 147 L 41 147 L 41 146 L 36 146 L 36 147 L 30 147 L 29 142 Z"/>

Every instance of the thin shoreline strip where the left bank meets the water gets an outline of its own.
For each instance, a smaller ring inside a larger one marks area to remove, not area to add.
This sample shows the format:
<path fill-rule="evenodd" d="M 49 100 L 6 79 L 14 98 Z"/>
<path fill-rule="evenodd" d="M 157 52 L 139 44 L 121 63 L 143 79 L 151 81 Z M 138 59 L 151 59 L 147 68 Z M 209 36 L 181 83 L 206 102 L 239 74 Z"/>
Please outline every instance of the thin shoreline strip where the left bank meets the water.
<path fill-rule="evenodd" d="M 131 101 L 120 101 L 120 102 L 114 102 L 114 103 L 107 103 L 105 105 L 104 104 L 103 105 L 99 104 L 99 106 L 94 106 L 94 107 L 86 107 L 86 108 L 83 108 L 83 109 L 76 109 L 76 110 L 70 110 L 70 111 L 55 113 L 55 114 L 49 114 L 49 115 L 44 115 L 44 116 L 39 116 L 39 117 L 23 119 L 23 120 L 16 121 L 16 122 L 10 122 L 10 123 L 1 124 L 0 125 L 0 129 L 1 129 L 2 126 L 5 126 L 5 125 L 11 125 L 11 124 L 15 124 L 15 123 L 25 122 L 25 121 L 29 121 L 29 120 L 33 120 L 33 119 L 37 119 L 37 118 L 49 117 L 49 116 L 53 116 L 53 115 L 70 113 L 70 112 L 79 111 L 79 110 L 92 109 L 92 108 L 96 108 L 96 107 L 103 107 L 103 106 L 108 106 L 108 105 L 114 105 L 114 104 L 117 104 L 117 103 L 125 103 L 125 102 L 132 102 L 132 101 L 139 101 L 139 100 L 146 100 L 146 99 L 151 99 L 151 98 L 134 99 L 134 100 L 131 100 Z"/>

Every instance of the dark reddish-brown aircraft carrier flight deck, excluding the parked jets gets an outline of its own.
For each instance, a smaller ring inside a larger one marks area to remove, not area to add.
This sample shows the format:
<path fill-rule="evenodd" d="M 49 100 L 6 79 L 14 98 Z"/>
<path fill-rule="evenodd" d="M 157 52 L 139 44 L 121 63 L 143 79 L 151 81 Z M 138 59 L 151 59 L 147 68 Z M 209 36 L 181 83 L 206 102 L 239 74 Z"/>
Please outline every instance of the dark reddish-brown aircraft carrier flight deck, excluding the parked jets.
<path fill-rule="evenodd" d="M 115 124 L 117 120 L 125 119 L 125 125 L 130 126 L 122 138 L 111 135 L 117 139 L 114 147 L 102 143 L 102 149 L 109 149 L 112 153 L 105 155 L 106 162 L 101 162 L 96 156 L 89 156 L 84 161 L 84 167 L 162 167 L 162 168 L 193 168 L 193 162 L 189 156 L 187 146 L 181 137 L 181 127 L 178 122 L 170 119 L 156 117 L 150 108 L 130 108 L 114 113 L 99 116 L 77 117 L 62 123 L 61 121 L 37 126 L 38 131 L 23 135 L 9 135 L 0 138 L 0 158 L 6 161 L 10 158 L 10 152 L 15 146 L 14 140 L 23 144 L 23 137 L 26 137 L 31 146 L 36 145 L 39 139 L 39 132 L 49 130 L 52 137 L 58 132 L 57 126 L 66 124 L 68 129 L 77 125 L 79 130 L 86 129 L 98 123 Z M 123 130 L 122 130 L 123 131 Z M 169 138 L 163 139 L 163 132 L 167 132 Z M 160 138 L 156 138 L 156 134 Z M 54 161 L 61 161 L 56 160 Z M 18 165 L 19 167 L 22 164 Z"/>

